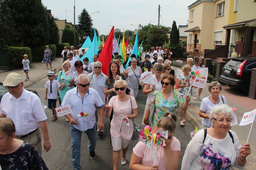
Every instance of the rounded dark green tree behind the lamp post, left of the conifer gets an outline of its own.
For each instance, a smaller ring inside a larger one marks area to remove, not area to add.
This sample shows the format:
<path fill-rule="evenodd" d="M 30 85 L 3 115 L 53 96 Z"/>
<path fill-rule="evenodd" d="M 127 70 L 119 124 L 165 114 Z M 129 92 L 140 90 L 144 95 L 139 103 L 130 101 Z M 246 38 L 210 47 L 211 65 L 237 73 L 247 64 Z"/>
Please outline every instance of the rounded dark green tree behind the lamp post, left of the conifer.
<path fill-rule="evenodd" d="M 75 44 L 80 44 L 80 38 L 78 32 L 75 30 Z M 61 43 L 69 43 L 70 46 L 74 46 L 74 29 L 65 28 L 62 33 Z"/>

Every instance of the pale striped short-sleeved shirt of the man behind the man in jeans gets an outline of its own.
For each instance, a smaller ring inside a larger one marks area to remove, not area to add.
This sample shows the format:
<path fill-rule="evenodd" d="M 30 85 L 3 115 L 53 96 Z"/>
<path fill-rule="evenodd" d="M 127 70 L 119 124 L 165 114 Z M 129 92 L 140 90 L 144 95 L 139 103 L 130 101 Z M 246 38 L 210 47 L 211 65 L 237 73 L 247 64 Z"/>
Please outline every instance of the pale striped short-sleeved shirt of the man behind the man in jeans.
<path fill-rule="evenodd" d="M 98 77 L 96 77 L 95 72 L 90 73 L 88 75 L 90 88 L 95 89 L 99 93 L 103 103 L 105 103 L 105 98 L 106 98 L 106 95 L 104 94 L 104 84 L 105 84 L 106 78 L 107 76 L 102 72 L 101 72 L 101 75 L 99 75 Z"/>

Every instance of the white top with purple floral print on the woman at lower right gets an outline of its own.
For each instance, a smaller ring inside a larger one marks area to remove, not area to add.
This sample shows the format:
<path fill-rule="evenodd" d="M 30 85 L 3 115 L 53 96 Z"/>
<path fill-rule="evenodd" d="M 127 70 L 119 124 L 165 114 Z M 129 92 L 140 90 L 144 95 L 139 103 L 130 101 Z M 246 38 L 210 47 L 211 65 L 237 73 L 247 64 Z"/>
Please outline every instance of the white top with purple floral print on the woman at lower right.
<path fill-rule="evenodd" d="M 187 145 L 181 169 L 229 169 L 234 164 L 241 168 L 237 165 L 241 144 L 237 134 L 232 130 L 230 132 L 234 143 L 228 133 L 224 139 L 215 139 L 207 134 L 203 143 L 204 130 L 198 131 Z"/>

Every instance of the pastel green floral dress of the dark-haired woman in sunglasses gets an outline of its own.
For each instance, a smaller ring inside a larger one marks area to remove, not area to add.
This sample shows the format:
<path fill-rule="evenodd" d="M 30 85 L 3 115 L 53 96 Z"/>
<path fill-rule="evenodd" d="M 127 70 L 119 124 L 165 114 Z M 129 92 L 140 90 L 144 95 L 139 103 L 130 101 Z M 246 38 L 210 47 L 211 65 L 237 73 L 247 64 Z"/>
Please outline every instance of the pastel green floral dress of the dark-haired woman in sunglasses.
<path fill-rule="evenodd" d="M 157 91 L 152 95 L 151 101 L 155 103 L 155 111 L 153 115 L 153 126 L 157 125 L 159 119 L 163 117 L 166 112 L 175 113 L 176 109 L 179 109 L 183 104 L 184 100 L 178 92 L 172 91 L 171 95 L 167 100 L 165 100 L 161 94 L 161 90 Z M 155 98 L 156 97 L 156 98 Z"/>

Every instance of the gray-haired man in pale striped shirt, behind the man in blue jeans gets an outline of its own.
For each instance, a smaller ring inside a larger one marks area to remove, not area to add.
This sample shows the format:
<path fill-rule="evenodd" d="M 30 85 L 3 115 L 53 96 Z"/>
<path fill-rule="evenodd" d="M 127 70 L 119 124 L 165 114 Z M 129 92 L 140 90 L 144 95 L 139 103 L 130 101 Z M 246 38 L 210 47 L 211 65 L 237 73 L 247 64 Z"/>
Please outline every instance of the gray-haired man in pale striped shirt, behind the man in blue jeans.
<path fill-rule="evenodd" d="M 95 89 L 99 93 L 102 102 L 105 103 L 106 95 L 104 94 L 104 84 L 107 76 L 102 73 L 101 68 L 102 68 L 102 63 L 99 61 L 96 61 L 94 63 L 94 72 L 88 75 L 88 79 L 90 82 L 90 87 Z M 99 115 L 99 110 L 97 109 L 95 112 L 95 117 L 96 117 L 96 122 L 99 123 L 98 115 Z M 103 130 L 104 128 L 102 130 L 98 129 L 99 136 L 103 135 Z"/>

